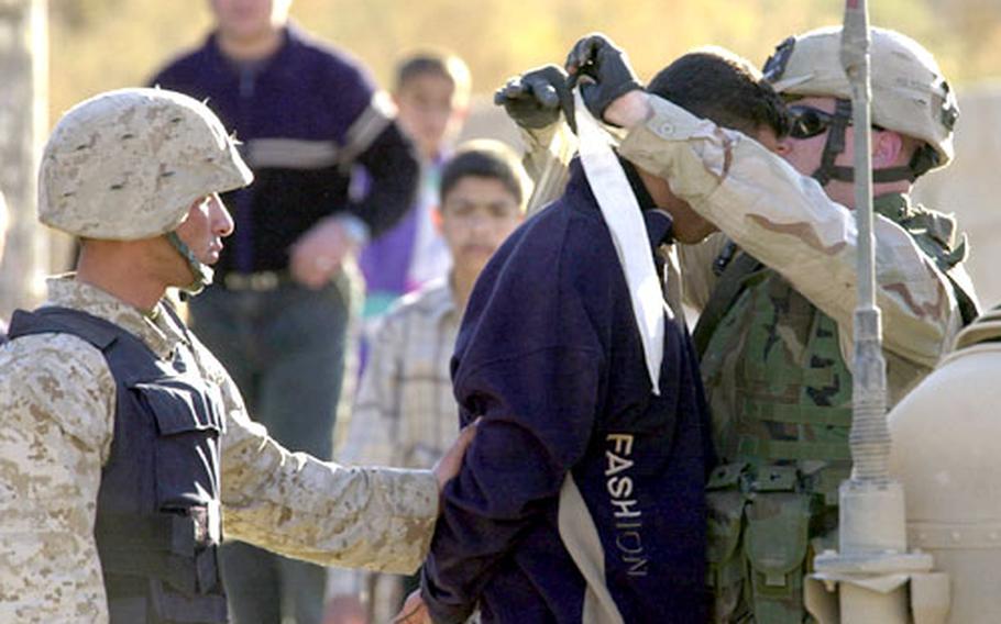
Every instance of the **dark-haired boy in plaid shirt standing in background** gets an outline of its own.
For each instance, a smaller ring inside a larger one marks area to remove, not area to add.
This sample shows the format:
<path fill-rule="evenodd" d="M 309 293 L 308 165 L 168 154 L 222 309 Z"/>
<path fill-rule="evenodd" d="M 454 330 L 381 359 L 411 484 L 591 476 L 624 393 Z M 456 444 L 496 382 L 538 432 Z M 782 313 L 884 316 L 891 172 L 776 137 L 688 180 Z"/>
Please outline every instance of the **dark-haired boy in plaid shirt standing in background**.
<path fill-rule="evenodd" d="M 465 143 L 444 164 L 439 227 L 454 264 L 380 320 L 340 461 L 427 468 L 448 449 L 459 431 L 449 371 L 459 323 L 483 267 L 521 223 L 529 188 L 518 156 L 497 141 Z M 397 608 L 419 577 L 402 580 L 378 593 L 366 583 L 370 614 L 382 603 Z M 389 598 L 373 604 L 382 593 Z"/>

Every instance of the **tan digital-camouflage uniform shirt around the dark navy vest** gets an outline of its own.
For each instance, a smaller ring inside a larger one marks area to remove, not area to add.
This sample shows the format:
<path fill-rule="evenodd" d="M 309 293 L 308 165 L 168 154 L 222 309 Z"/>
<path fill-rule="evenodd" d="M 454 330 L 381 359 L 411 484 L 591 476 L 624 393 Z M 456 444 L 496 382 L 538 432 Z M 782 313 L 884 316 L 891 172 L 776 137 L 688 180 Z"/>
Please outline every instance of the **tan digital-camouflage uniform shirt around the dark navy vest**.
<path fill-rule="evenodd" d="M 190 348 L 222 388 L 223 532 L 323 565 L 410 572 L 427 551 L 438 508 L 427 471 L 344 468 L 285 450 L 252 422 L 235 386 L 157 305 L 143 314 L 72 277 L 50 303 L 106 319 L 160 358 Z M 0 348 L 0 622 L 107 622 L 94 539 L 109 457 L 116 385 L 101 353 L 69 334 Z"/>

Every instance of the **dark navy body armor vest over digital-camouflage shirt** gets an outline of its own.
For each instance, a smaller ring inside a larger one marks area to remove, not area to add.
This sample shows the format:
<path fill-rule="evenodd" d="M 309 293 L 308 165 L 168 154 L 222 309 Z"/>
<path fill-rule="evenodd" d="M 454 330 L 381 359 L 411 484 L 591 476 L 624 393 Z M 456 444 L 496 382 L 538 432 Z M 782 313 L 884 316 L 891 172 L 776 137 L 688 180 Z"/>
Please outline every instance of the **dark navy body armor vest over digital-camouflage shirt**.
<path fill-rule="evenodd" d="M 14 313 L 11 339 L 41 333 L 87 341 L 116 381 L 95 525 L 111 622 L 227 622 L 216 553 L 224 428 L 218 387 L 201 377 L 188 348 L 165 361 L 125 330 L 84 312 Z"/>

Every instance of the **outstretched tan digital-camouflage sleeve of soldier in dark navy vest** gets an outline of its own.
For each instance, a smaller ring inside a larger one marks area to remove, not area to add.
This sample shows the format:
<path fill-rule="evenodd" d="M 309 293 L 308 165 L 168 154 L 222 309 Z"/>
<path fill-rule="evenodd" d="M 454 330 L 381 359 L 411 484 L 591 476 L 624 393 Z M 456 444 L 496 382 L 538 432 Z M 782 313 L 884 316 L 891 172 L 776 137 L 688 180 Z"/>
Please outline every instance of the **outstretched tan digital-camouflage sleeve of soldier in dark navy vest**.
<path fill-rule="evenodd" d="M 410 573 L 438 516 L 428 470 L 346 468 L 290 453 L 250 420 L 232 380 L 222 385 L 223 531 L 288 557 Z"/>

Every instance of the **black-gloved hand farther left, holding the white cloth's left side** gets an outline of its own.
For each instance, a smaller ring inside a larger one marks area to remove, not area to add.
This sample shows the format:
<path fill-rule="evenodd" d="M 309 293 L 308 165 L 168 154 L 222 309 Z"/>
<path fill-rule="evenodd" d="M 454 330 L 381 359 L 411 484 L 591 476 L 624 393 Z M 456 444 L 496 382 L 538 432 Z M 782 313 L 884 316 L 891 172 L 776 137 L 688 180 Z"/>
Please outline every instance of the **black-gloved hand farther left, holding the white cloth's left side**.
<path fill-rule="evenodd" d="M 576 132 L 566 73 L 556 65 L 537 67 L 512 78 L 494 93 L 494 103 L 504 107 L 515 123 L 528 129 L 557 123 L 562 111 L 570 129 Z"/>

